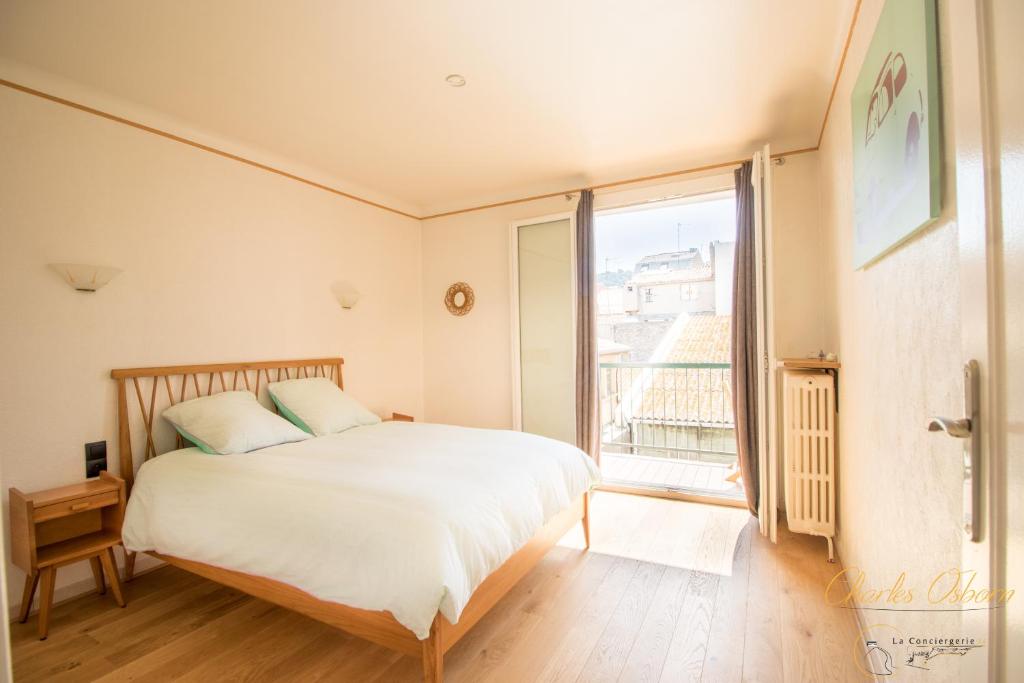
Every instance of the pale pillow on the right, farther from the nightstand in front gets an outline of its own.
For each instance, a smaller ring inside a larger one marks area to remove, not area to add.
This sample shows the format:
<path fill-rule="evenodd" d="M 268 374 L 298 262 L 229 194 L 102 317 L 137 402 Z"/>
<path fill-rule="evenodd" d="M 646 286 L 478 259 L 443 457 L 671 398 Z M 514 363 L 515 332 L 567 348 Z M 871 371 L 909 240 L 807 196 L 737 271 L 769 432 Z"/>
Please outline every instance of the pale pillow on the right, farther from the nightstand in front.
<path fill-rule="evenodd" d="M 381 421 L 326 377 L 274 382 L 267 391 L 282 415 L 316 436 Z"/>

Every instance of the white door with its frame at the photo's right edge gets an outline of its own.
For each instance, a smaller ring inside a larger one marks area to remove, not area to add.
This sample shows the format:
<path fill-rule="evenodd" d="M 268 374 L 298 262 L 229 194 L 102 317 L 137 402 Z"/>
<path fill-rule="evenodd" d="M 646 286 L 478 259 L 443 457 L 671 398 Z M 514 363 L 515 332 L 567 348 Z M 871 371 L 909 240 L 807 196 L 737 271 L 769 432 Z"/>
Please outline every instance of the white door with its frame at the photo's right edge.
<path fill-rule="evenodd" d="M 962 569 L 976 584 L 1019 590 L 1024 582 L 1024 26 L 1019 0 L 950 3 L 953 125 L 965 361 L 979 369 L 980 458 L 965 503 L 980 497 L 965 536 Z M 941 302 L 937 302 L 940 304 Z M 1024 605 L 965 611 L 965 633 L 987 656 L 964 657 L 963 680 L 1019 680 Z"/>

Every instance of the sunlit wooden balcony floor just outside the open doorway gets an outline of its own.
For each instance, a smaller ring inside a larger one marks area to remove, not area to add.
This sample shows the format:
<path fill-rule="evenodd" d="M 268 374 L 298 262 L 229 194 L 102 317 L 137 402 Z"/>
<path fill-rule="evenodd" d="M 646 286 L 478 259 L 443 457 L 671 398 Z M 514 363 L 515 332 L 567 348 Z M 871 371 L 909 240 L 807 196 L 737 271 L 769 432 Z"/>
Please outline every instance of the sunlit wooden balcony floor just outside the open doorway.
<path fill-rule="evenodd" d="M 608 483 L 678 488 L 730 498 L 743 496 L 741 484 L 726 480 L 731 473 L 729 466 L 720 463 L 602 453 L 601 473 Z"/>

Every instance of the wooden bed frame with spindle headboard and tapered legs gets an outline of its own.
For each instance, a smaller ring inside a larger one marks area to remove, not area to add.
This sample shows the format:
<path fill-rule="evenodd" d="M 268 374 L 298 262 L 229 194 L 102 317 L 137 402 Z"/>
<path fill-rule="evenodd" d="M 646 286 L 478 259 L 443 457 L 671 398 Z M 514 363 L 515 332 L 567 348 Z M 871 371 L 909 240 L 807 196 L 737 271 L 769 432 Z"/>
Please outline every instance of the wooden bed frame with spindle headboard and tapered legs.
<path fill-rule="evenodd" d="M 248 390 L 259 397 L 260 388 L 270 382 L 304 377 L 326 377 L 344 388 L 342 358 L 308 358 L 300 360 L 267 360 L 259 362 L 225 362 L 201 366 L 134 368 L 111 371 L 118 385 L 118 447 L 121 476 L 130 495 L 135 479 L 132 456 L 132 427 L 129 423 L 129 387 L 138 401 L 141 430 L 145 446 L 143 460 L 156 458 L 168 450 L 158 447 L 160 431 L 154 425 L 155 415 L 163 408 L 197 396 L 219 391 Z M 166 400 L 165 400 L 166 396 Z M 157 423 L 160 424 L 159 422 Z M 170 439 L 170 431 L 166 437 Z M 174 447 L 183 447 L 180 435 L 175 435 Z M 504 597 L 562 536 L 578 522 L 583 522 L 584 539 L 590 547 L 589 495 L 584 494 L 569 508 L 545 524 L 525 546 L 487 577 L 476 589 L 457 624 L 443 615 L 434 616 L 430 637 L 419 640 L 412 631 L 399 624 L 390 612 L 368 611 L 336 602 L 319 600 L 312 595 L 281 582 L 222 569 L 202 562 L 159 553 L 150 553 L 169 564 L 253 595 L 257 598 L 293 609 L 315 620 L 342 629 L 403 654 L 421 657 L 423 680 L 437 683 L 443 679 L 444 653 L 455 645 L 484 614 Z M 135 553 L 125 553 L 125 581 L 130 581 L 135 566 Z"/>

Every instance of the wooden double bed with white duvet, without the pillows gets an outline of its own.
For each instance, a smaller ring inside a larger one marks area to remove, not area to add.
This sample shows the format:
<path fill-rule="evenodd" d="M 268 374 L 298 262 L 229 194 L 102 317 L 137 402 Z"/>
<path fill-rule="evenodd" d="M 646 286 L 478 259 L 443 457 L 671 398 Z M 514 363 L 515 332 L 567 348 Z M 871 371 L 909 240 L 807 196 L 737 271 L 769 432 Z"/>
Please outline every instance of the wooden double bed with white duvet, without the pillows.
<path fill-rule="evenodd" d="M 343 388 L 343 364 L 112 371 L 129 488 L 126 580 L 145 552 L 418 656 L 424 680 L 440 681 L 444 652 L 574 524 L 589 547 L 597 470 L 551 439 L 412 422 L 211 457 L 156 417 L 219 391 L 260 396 L 285 379 Z"/>

